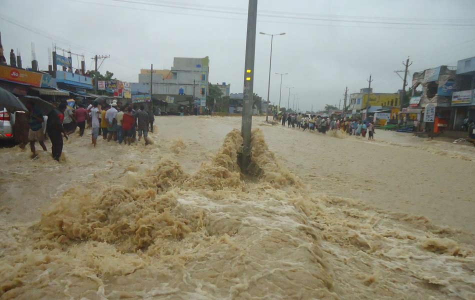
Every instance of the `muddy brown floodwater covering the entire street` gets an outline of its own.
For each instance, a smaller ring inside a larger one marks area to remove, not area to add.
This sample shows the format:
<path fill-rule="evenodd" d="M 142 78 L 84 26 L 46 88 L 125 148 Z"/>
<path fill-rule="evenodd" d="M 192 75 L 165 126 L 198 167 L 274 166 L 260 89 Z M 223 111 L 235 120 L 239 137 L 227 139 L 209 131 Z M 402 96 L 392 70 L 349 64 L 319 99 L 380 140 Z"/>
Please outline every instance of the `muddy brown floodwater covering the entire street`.
<path fill-rule="evenodd" d="M 475 298 L 472 148 L 239 121 L 0 149 L 0 299 Z"/>

